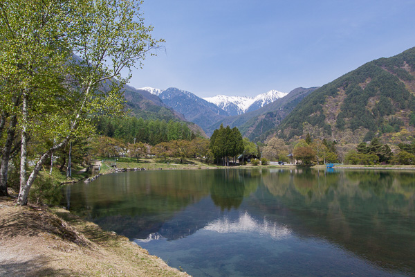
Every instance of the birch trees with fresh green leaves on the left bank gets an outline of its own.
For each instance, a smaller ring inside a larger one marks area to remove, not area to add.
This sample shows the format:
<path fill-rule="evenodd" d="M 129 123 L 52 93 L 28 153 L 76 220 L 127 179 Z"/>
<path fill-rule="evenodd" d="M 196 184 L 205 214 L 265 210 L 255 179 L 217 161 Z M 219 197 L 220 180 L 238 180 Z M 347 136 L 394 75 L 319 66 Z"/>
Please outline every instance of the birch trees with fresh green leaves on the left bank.
<path fill-rule="evenodd" d="M 162 42 L 151 30 L 137 0 L 0 2 L 0 195 L 10 159 L 20 154 L 26 205 L 53 152 L 93 133 L 94 116 L 120 112 L 131 68 Z"/>

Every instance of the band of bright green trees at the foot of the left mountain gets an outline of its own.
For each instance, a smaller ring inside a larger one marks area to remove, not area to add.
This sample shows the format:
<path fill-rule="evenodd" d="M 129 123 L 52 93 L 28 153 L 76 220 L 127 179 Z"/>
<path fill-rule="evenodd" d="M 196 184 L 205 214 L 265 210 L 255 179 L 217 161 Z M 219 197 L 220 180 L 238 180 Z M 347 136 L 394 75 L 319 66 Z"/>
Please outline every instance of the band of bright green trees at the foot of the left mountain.
<path fill-rule="evenodd" d="M 142 118 L 102 117 L 97 120 L 98 134 L 119 139 L 125 143 L 148 143 L 156 145 L 168 141 L 191 141 L 196 136 L 186 123 L 169 120 L 143 120 Z"/>

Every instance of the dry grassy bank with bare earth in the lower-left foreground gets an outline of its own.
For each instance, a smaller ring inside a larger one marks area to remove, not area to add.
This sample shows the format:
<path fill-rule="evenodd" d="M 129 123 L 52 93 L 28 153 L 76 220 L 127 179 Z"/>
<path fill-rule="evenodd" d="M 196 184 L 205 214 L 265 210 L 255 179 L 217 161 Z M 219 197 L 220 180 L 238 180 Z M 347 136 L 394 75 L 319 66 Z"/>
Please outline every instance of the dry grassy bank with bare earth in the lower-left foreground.
<path fill-rule="evenodd" d="M 189 276 L 64 208 L 0 197 L 0 276 Z"/>

